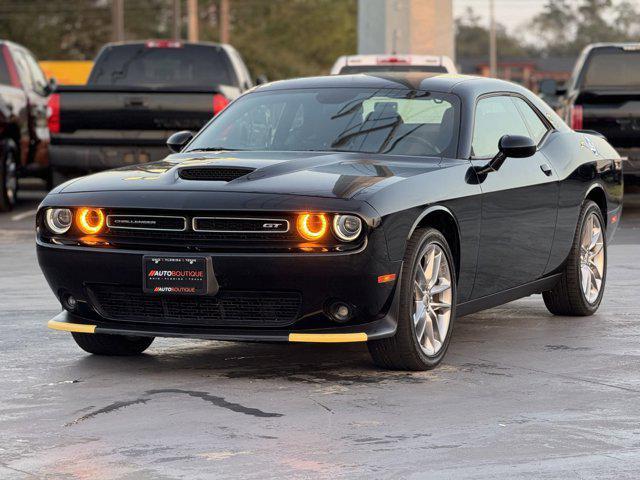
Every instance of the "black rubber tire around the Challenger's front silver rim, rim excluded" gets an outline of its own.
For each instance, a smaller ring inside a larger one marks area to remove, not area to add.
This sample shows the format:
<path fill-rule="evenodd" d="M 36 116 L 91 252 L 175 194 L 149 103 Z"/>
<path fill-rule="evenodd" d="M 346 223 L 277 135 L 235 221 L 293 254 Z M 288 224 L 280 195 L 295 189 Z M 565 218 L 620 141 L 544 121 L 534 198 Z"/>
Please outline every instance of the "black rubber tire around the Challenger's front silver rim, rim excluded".
<path fill-rule="evenodd" d="M 431 243 L 439 245 L 446 255 L 451 270 L 452 290 L 449 329 L 442 347 L 434 356 L 426 355 L 420 347 L 412 319 L 414 276 L 423 253 Z M 390 338 L 369 341 L 367 344 L 369 353 L 373 362 L 382 368 L 391 370 L 430 370 L 442 361 L 449 347 L 453 333 L 457 299 L 456 269 L 453 255 L 447 240 L 438 230 L 434 228 L 418 229 L 409 239 L 398 288 L 400 288 L 398 292 L 398 295 L 400 295 L 400 308 L 396 334 Z"/>

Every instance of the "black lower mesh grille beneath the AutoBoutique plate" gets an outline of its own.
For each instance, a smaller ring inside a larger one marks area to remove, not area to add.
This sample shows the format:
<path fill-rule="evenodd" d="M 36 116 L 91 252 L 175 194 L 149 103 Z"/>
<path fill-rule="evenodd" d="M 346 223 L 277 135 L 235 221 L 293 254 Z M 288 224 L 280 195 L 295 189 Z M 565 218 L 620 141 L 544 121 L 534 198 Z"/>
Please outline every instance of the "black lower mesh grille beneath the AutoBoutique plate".
<path fill-rule="evenodd" d="M 90 285 L 88 291 L 96 309 L 109 320 L 185 326 L 283 327 L 298 318 L 302 302 L 298 292 L 155 296 L 115 285 Z"/>

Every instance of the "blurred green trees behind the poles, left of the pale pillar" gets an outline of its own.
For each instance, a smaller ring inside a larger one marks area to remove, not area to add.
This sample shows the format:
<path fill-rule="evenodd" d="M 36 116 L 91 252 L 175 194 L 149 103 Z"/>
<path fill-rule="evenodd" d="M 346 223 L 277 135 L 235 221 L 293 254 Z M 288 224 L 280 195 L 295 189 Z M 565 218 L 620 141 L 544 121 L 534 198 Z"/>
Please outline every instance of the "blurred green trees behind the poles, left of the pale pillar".
<path fill-rule="evenodd" d="M 200 0 L 202 40 L 217 41 L 218 0 Z M 230 0 L 231 41 L 254 74 L 327 73 L 355 53 L 357 0 Z M 125 0 L 126 38 L 170 38 L 172 0 Z M 186 37 L 186 2 L 182 2 Z M 91 59 L 111 40 L 109 0 L 0 0 L 0 38 L 49 60 Z"/>

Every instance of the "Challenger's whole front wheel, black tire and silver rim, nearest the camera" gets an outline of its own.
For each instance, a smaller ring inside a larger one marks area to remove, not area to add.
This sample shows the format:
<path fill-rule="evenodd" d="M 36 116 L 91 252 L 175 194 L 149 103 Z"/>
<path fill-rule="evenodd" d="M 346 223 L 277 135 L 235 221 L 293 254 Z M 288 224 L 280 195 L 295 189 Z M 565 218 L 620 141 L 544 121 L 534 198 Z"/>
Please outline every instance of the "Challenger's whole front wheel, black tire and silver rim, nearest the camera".
<path fill-rule="evenodd" d="M 419 229 L 407 243 L 398 288 L 398 329 L 372 340 L 376 365 L 394 370 L 429 370 L 444 357 L 456 310 L 456 277 L 451 249 L 433 228 Z"/>

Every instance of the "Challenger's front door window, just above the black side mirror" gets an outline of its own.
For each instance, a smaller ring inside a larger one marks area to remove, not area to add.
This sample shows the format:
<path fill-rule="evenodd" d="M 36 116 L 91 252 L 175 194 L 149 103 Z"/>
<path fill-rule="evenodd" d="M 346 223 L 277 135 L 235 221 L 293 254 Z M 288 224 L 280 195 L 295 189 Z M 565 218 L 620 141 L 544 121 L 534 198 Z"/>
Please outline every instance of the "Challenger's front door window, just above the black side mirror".
<path fill-rule="evenodd" d="M 483 98 L 476 106 L 471 155 L 493 157 L 503 135 L 530 136 L 522 115 L 509 96 Z"/>

